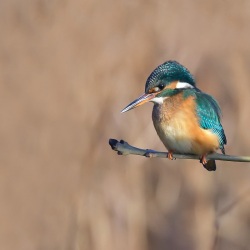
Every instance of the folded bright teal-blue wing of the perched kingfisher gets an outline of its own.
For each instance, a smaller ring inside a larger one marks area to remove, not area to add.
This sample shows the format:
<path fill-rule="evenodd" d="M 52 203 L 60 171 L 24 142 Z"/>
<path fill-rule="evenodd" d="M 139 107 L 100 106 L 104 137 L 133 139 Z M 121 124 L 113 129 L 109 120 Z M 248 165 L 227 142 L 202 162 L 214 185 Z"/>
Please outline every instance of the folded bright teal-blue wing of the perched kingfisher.
<path fill-rule="evenodd" d="M 224 145 L 227 144 L 227 139 L 220 123 L 221 110 L 219 104 L 212 96 L 200 91 L 197 91 L 195 96 L 196 112 L 199 117 L 200 126 L 211 130 L 218 136 L 220 149 L 224 153 Z"/>

